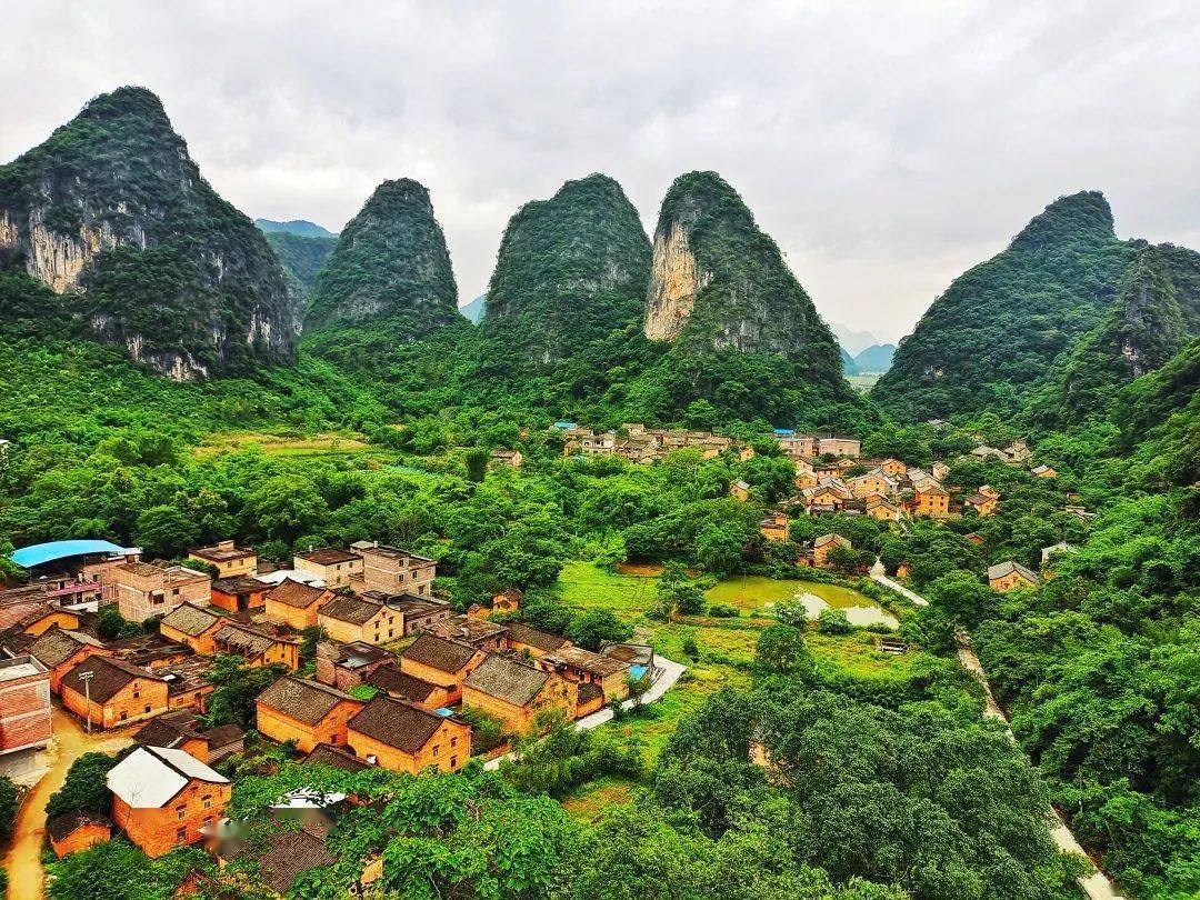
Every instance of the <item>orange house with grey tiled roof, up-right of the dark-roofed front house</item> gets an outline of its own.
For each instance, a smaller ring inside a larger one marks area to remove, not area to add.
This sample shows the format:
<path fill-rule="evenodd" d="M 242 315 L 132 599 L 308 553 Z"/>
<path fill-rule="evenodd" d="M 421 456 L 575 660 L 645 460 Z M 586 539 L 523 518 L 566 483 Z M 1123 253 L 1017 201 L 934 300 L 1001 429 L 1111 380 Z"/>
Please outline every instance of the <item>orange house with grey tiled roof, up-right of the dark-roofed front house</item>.
<path fill-rule="evenodd" d="M 528 734 L 545 709 L 574 716 L 576 692 L 553 672 L 493 653 L 463 682 L 462 704 L 499 719 L 509 733 Z"/>

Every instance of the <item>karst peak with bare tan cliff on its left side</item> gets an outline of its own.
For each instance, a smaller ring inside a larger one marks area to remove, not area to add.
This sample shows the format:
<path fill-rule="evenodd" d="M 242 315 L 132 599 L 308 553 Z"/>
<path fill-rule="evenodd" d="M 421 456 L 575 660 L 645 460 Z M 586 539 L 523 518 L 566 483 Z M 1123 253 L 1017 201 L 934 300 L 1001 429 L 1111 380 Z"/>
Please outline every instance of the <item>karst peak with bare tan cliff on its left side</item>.
<path fill-rule="evenodd" d="M 738 193 L 714 172 L 676 179 L 654 232 L 646 336 L 692 352 L 781 354 L 841 379 L 841 350 Z"/>

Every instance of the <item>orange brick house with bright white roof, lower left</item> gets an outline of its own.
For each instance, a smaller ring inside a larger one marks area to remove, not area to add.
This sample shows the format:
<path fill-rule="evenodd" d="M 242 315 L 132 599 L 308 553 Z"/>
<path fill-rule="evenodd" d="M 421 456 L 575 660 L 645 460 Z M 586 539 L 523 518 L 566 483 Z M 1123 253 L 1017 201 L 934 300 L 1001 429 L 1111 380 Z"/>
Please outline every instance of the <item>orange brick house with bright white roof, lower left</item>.
<path fill-rule="evenodd" d="M 229 803 L 229 780 L 182 750 L 139 746 L 108 773 L 113 823 L 151 858 L 196 844 Z"/>

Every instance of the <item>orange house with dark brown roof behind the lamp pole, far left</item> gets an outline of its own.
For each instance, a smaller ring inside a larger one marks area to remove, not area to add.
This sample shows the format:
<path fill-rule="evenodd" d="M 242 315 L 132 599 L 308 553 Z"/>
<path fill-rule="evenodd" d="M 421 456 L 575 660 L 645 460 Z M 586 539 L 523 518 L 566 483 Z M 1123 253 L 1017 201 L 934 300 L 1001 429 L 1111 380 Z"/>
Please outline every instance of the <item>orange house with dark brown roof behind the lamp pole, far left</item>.
<path fill-rule="evenodd" d="M 62 676 L 61 692 L 66 709 L 100 728 L 133 725 L 170 708 L 166 678 L 108 656 L 74 666 Z"/>

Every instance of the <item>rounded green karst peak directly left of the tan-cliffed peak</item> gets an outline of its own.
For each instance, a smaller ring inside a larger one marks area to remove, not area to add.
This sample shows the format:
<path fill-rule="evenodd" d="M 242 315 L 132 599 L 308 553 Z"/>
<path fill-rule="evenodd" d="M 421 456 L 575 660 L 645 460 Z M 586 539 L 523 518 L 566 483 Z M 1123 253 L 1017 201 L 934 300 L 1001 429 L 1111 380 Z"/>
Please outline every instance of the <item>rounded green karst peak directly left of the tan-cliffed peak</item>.
<path fill-rule="evenodd" d="M 568 181 L 509 221 L 487 288 L 486 371 L 546 372 L 637 319 L 650 244 L 614 180 Z"/>

